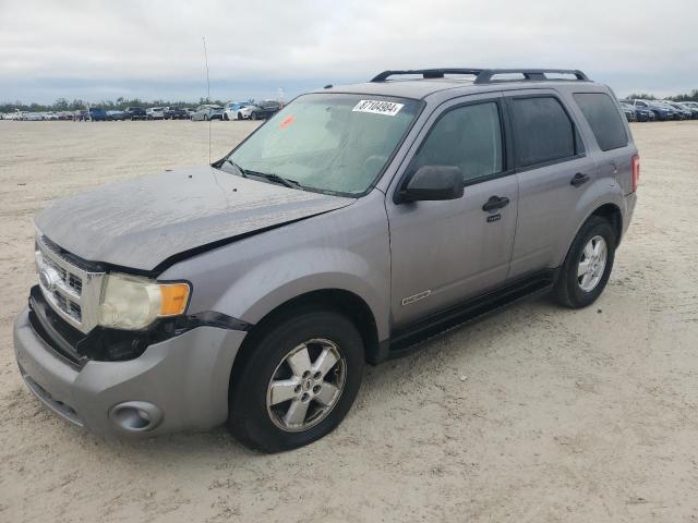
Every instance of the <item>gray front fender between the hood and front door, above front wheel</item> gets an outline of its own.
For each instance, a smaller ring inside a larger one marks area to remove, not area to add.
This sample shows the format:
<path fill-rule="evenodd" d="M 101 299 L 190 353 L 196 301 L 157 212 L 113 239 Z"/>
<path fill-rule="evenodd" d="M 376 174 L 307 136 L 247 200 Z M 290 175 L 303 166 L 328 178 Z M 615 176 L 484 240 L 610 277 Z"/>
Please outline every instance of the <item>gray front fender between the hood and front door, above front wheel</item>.
<path fill-rule="evenodd" d="M 366 303 L 378 339 L 385 339 L 389 336 L 390 246 L 383 198 L 383 193 L 374 191 L 333 212 L 188 257 L 160 278 L 192 283 L 188 314 L 215 311 L 252 325 L 305 293 L 347 291 Z"/>

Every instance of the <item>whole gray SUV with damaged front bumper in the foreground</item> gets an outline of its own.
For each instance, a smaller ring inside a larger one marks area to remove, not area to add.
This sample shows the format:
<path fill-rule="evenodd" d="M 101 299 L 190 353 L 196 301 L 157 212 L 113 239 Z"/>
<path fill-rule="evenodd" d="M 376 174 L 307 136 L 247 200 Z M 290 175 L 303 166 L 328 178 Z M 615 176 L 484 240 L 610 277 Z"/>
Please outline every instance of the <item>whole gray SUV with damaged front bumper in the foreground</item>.
<path fill-rule="evenodd" d="M 333 430 L 364 364 L 525 296 L 603 291 L 639 158 L 580 71 L 386 71 L 298 97 L 221 160 L 36 217 L 28 388 L 75 425 Z"/>

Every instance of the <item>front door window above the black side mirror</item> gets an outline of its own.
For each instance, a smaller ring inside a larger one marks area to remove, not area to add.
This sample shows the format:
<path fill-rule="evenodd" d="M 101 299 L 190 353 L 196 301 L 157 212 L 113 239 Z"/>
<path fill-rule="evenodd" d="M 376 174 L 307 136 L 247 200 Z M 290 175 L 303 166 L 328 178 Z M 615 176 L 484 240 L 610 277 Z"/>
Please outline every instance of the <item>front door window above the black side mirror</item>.
<path fill-rule="evenodd" d="M 443 114 L 412 160 L 413 171 L 422 166 L 459 167 L 466 182 L 502 172 L 497 104 L 461 106 Z"/>

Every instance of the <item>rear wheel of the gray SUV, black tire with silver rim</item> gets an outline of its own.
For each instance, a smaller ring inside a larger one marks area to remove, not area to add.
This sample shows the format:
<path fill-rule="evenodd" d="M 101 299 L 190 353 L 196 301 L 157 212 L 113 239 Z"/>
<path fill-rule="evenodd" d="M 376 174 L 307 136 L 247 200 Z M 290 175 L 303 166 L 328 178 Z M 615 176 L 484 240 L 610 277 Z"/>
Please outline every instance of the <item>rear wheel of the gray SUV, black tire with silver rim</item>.
<path fill-rule="evenodd" d="M 599 252 L 605 246 L 603 265 L 600 259 L 594 262 L 598 254 L 589 256 L 597 245 Z M 553 290 L 556 302 L 569 308 L 582 308 L 595 302 L 611 276 L 616 245 L 617 238 L 612 224 L 598 216 L 589 218 L 575 236 L 558 275 Z M 589 246 L 591 252 L 588 251 Z M 585 268 L 588 270 L 585 271 Z"/>

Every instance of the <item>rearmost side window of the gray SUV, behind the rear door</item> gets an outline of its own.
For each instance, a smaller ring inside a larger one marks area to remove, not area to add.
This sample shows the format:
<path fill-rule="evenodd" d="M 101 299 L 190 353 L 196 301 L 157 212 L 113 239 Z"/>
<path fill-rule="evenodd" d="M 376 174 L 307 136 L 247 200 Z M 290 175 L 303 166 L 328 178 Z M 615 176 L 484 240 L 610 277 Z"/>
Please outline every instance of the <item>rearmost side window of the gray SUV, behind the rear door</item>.
<path fill-rule="evenodd" d="M 581 109 L 601 150 L 628 145 L 628 135 L 615 104 L 605 93 L 577 93 L 573 95 Z"/>

